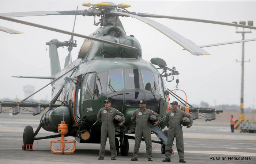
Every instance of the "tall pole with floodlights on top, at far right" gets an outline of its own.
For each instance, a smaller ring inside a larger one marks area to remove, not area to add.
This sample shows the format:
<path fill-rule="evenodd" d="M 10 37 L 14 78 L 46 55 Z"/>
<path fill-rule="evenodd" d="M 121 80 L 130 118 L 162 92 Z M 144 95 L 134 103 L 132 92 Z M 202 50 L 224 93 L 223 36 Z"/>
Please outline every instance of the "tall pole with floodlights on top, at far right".
<path fill-rule="evenodd" d="M 237 22 L 232 22 L 232 23 L 237 23 Z M 239 24 L 243 24 L 245 25 L 246 22 L 245 21 L 240 21 Z M 253 21 L 248 21 L 248 26 L 253 26 Z M 242 40 L 244 40 L 244 34 L 245 33 L 252 33 L 252 31 L 236 31 L 236 33 L 241 33 L 242 34 Z M 244 62 L 250 62 L 249 61 L 244 61 L 244 42 L 242 42 L 242 60 L 241 61 L 237 61 L 236 62 L 241 62 L 241 66 L 242 66 L 242 75 L 241 75 L 241 101 L 240 101 L 240 120 L 244 119 Z"/>

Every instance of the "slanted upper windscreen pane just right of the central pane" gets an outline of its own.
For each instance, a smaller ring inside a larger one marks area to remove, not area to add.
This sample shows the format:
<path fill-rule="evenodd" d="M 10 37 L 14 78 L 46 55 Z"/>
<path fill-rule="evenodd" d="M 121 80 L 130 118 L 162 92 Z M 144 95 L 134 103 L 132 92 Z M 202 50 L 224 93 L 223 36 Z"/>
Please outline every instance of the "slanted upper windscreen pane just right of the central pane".
<path fill-rule="evenodd" d="M 150 71 L 142 70 L 142 77 L 145 89 L 153 93 L 158 93 L 153 74 Z"/>

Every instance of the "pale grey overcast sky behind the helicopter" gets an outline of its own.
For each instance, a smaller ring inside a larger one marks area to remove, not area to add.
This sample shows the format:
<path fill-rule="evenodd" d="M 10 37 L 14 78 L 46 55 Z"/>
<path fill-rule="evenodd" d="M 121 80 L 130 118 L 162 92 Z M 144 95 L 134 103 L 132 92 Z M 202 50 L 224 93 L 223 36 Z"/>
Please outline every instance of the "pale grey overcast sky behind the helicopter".
<path fill-rule="evenodd" d="M 41 1 L 41 0 L 1 0 L 0 13 L 22 11 L 65 11 L 87 9 L 82 3 L 86 1 Z M 88 1 L 89 2 L 89 1 Z M 100 1 L 90 1 L 91 4 Z M 112 1 L 113 3 L 131 4 L 129 11 L 192 17 L 222 22 L 253 20 L 256 24 L 255 1 Z M 37 16 L 19 17 L 18 19 L 45 26 L 72 31 L 74 16 Z M 98 18 L 99 19 L 99 18 Z M 98 27 L 93 26 L 93 17 L 78 16 L 75 32 L 90 35 Z M 178 44 L 147 24 L 134 18 L 121 17 L 127 35 L 134 35 L 142 46 L 143 59 L 160 57 L 168 67 L 175 66 L 180 75 L 179 89 L 186 91 L 188 102 L 200 104 L 208 102 L 211 106 L 229 104 L 240 105 L 242 43 L 203 48 L 211 55 L 194 56 L 182 50 Z M 241 40 L 236 34 L 236 27 L 187 22 L 170 19 L 154 19 L 178 32 L 198 46 Z M 22 24 L 0 20 L 0 26 L 24 32 L 24 34 L 7 34 L 0 31 L 0 99 L 24 98 L 23 86 L 34 85 L 38 90 L 49 80 L 11 78 L 13 75 L 50 76 L 49 53 L 45 42 L 51 39 L 67 41 L 70 36 L 56 32 L 29 27 Z M 241 31 L 242 28 L 238 28 Z M 249 30 L 246 30 L 249 31 Z M 245 39 L 256 38 L 256 31 L 245 34 Z M 83 39 L 74 37 L 78 47 L 72 51 L 72 59 L 77 58 Z M 245 43 L 245 88 L 244 107 L 256 106 L 256 42 Z M 47 51 L 46 51 L 47 48 Z M 63 68 L 66 48 L 59 48 L 61 68 Z M 167 82 L 169 89 L 176 86 L 175 81 Z M 34 95 L 34 99 L 50 99 L 51 87 Z M 183 96 L 182 94 L 180 94 Z"/>

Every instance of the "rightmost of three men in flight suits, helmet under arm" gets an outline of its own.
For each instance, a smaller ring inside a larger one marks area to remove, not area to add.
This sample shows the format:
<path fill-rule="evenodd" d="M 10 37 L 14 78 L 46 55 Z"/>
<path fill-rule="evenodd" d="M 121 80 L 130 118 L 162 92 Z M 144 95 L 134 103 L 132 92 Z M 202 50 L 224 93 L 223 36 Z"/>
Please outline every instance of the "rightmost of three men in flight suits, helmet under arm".
<path fill-rule="evenodd" d="M 188 117 L 190 122 L 187 128 L 190 128 L 193 124 L 193 120 L 191 116 L 185 113 L 182 110 L 178 110 L 178 102 L 173 101 L 171 103 L 172 108 L 169 112 L 166 113 L 165 116 L 165 125 L 168 128 L 168 136 L 167 136 L 167 143 L 165 145 L 165 159 L 163 162 L 170 162 L 171 161 L 171 150 L 173 145 L 174 137 L 176 138 L 176 147 L 178 151 L 178 155 L 180 158 L 180 162 L 185 163 L 184 160 L 184 142 L 183 142 L 183 132 L 181 127 L 181 119 L 182 117 Z"/>

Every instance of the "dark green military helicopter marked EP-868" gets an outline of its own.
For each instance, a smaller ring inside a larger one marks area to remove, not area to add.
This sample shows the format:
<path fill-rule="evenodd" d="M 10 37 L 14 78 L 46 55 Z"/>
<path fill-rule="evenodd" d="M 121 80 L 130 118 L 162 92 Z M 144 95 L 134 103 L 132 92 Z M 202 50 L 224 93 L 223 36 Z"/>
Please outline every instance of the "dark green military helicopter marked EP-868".
<path fill-rule="evenodd" d="M 112 107 L 120 110 L 125 115 L 125 126 L 121 128 L 116 127 L 116 136 L 120 137 L 121 155 L 127 156 L 129 148 L 128 138 L 134 139 L 134 137 L 127 135 L 134 133 L 134 125 L 130 122 L 131 114 L 138 108 L 138 102 L 140 99 L 146 99 L 147 108 L 157 112 L 161 117 L 164 117 L 167 111 L 167 96 L 169 94 L 173 95 L 173 93 L 170 93 L 170 90 L 167 89 L 164 79 L 172 81 L 174 79 L 173 76 L 179 73 L 175 67 L 167 67 L 166 62 L 161 58 L 153 58 L 151 59 L 151 63 L 143 60 L 140 43 L 134 36 L 127 36 L 125 34 L 118 17 L 130 16 L 149 24 L 193 55 L 207 55 L 209 53 L 196 46 L 196 44 L 190 40 L 170 30 L 168 27 L 144 17 L 165 17 L 181 20 L 185 20 L 185 18 L 130 12 L 126 9 L 130 7 L 130 5 L 127 4 L 84 3 L 83 5 L 90 8 L 61 12 L 0 13 L 0 19 L 85 38 L 78 53 L 78 59 L 70 63 L 71 58 L 69 57 L 70 55 L 68 55 L 63 70 L 60 69 L 57 48 L 67 46 L 69 47 L 69 52 L 71 52 L 72 47 L 76 46 L 76 42 L 71 38 L 68 42 L 51 40 L 46 43 L 50 47 L 51 76 L 23 77 L 52 80 L 48 84 L 52 85 L 52 101 L 49 104 L 26 102 L 27 98 L 25 98 L 20 102 L 1 102 L 0 112 L 4 113 L 6 111 L 2 110 L 2 107 L 5 106 L 11 107 L 13 114 L 22 113 L 20 112 L 20 109 L 22 109 L 37 115 L 45 109 L 48 109 L 48 111 L 42 115 L 39 126 L 35 132 L 31 126 L 26 126 L 23 133 L 23 150 L 26 149 L 26 144 L 33 144 L 34 140 L 60 137 L 59 134 L 45 137 L 36 136 L 40 128 L 50 132 L 57 132 L 57 126 L 62 120 L 63 113 L 65 121 L 69 125 L 67 136 L 74 136 L 80 143 L 99 143 L 100 124 L 98 122 L 95 123 L 96 116 L 98 110 L 103 107 L 102 102 L 105 101 L 105 99 L 110 99 L 112 101 Z M 100 25 L 101 27 L 90 36 L 85 36 L 10 18 L 39 15 L 99 16 L 101 19 L 97 23 L 95 21 L 94 24 Z M 256 29 L 253 26 L 233 23 L 198 19 L 190 20 Z M 1 30 L 9 33 L 19 33 L 16 30 L 4 27 L 1 27 Z M 154 65 L 159 68 L 156 68 Z M 159 73 L 158 69 L 161 70 L 161 73 Z M 171 79 L 168 79 L 168 77 L 171 77 Z M 177 95 L 174 96 L 180 98 Z M 183 102 L 181 98 L 180 100 Z M 181 109 L 185 110 L 186 102 L 183 103 L 184 107 L 181 107 Z M 27 109 L 28 107 L 33 108 L 33 110 Z M 188 107 L 186 109 L 188 109 L 188 112 L 193 116 L 193 119 L 199 118 L 199 113 L 203 113 L 205 120 L 210 121 L 216 118 L 216 113 L 222 112 L 221 110 L 212 108 L 198 109 L 191 105 L 186 107 Z M 158 129 L 163 128 L 165 128 L 165 125 L 162 122 Z M 162 140 L 153 142 L 164 144 L 164 133 L 162 132 L 162 134 L 158 129 L 153 129 L 152 132 L 157 133 L 159 139 L 161 140 L 162 138 Z M 119 141 L 116 143 L 118 144 Z M 119 148 L 119 145 L 117 145 L 117 148 Z"/>

